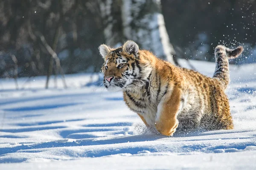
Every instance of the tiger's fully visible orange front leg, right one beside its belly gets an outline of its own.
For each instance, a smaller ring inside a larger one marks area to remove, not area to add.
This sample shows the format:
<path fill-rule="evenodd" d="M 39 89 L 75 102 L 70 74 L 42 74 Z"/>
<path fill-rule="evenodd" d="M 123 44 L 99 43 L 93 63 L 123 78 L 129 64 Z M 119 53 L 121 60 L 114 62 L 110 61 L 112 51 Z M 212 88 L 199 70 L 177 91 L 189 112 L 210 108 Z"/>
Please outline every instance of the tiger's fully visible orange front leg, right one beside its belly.
<path fill-rule="evenodd" d="M 180 107 L 180 90 L 167 92 L 157 106 L 155 127 L 162 135 L 172 136 L 178 127 L 177 114 Z"/>

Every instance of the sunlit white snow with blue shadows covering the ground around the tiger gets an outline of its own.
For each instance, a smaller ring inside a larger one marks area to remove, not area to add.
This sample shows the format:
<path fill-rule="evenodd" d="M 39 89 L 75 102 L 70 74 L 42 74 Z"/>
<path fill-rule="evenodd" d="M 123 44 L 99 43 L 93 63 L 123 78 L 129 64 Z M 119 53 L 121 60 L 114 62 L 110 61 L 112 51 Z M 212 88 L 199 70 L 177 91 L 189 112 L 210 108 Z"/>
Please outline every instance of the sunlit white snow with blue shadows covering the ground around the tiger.
<path fill-rule="evenodd" d="M 185 60 L 180 60 L 187 67 Z M 212 76 L 215 64 L 192 61 Z M 149 133 L 121 92 L 102 77 L 67 75 L 69 88 L 44 89 L 45 77 L 0 79 L 0 170 L 256 169 L 256 64 L 231 66 L 234 130 Z M 100 81 L 100 82 L 97 82 Z M 25 83 L 25 84 L 24 84 Z"/>

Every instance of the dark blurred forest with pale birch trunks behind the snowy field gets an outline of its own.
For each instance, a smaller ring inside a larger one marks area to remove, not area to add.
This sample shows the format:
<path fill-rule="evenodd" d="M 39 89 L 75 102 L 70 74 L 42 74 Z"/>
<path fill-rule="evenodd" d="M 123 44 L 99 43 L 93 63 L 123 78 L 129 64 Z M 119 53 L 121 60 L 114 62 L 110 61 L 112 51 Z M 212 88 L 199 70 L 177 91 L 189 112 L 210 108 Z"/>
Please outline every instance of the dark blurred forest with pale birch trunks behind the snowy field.
<path fill-rule="evenodd" d="M 99 72 L 99 45 L 126 40 L 177 65 L 244 45 L 232 63 L 252 63 L 255 25 L 254 0 L 0 0 L 0 77 Z"/>

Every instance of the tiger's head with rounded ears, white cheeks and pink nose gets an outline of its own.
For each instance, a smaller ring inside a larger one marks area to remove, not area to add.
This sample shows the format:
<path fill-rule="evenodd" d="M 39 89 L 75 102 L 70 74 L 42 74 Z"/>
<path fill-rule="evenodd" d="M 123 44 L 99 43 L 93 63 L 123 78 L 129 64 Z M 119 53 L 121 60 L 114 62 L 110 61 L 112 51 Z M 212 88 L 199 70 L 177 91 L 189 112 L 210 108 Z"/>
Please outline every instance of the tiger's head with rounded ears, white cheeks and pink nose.
<path fill-rule="evenodd" d="M 139 46 L 135 42 L 127 41 L 115 49 L 100 45 L 99 53 L 104 59 L 103 84 L 108 91 L 137 89 L 148 81 L 152 69 L 149 61 L 140 55 Z"/>

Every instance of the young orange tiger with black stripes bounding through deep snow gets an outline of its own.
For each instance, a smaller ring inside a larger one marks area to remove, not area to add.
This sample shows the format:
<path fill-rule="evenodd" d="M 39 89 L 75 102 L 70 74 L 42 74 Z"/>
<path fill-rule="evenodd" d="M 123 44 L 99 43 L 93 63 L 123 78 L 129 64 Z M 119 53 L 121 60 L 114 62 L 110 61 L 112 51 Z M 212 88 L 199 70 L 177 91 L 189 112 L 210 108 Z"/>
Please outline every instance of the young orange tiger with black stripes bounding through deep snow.
<path fill-rule="evenodd" d="M 140 50 L 133 41 L 122 47 L 100 45 L 105 60 L 103 84 L 109 91 L 122 91 L 126 105 L 149 128 L 172 136 L 176 129 L 233 129 L 229 100 L 224 93 L 229 79 L 228 59 L 243 47 L 215 48 L 213 78 L 180 68 Z"/>

